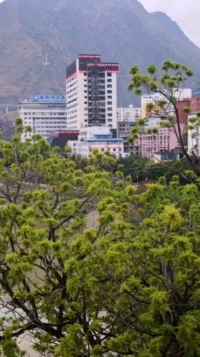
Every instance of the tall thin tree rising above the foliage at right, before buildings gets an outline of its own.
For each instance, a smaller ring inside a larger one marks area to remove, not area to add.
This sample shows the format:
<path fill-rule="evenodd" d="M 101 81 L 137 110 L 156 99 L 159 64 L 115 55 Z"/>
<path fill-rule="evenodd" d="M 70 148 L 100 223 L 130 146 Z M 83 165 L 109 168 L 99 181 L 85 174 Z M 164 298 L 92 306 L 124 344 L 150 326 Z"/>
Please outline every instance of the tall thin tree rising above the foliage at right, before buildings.
<path fill-rule="evenodd" d="M 135 65 L 131 68 L 131 82 L 128 86 L 130 91 L 134 91 L 136 96 L 141 96 L 147 93 L 152 102 L 147 104 L 148 112 L 153 113 L 156 107 L 162 109 L 166 120 L 160 122 L 160 126 L 171 128 L 176 135 L 178 144 L 181 150 L 193 167 L 194 172 L 199 175 L 199 166 L 194 164 L 191 155 L 188 153 L 187 146 L 183 138 L 183 131 L 181 130 L 181 117 L 178 112 L 178 100 L 181 100 L 181 95 L 188 79 L 192 77 L 192 70 L 178 62 L 165 61 L 160 69 L 154 64 L 149 65 L 147 73 L 141 73 L 139 66 Z M 152 95 L 158 93 L 162 96 L 155 99 Z M 190 113 L 190 107 L 183 108 L 183 112 Z M 137 128 L 134 128 L 137 130 Z M 140 132 L 140 126 L 138 128 Z M 137 137 L 135 132 L 132 135 L 133 139 Z M 139 137 L 139 135 L 138 135 Z"/>

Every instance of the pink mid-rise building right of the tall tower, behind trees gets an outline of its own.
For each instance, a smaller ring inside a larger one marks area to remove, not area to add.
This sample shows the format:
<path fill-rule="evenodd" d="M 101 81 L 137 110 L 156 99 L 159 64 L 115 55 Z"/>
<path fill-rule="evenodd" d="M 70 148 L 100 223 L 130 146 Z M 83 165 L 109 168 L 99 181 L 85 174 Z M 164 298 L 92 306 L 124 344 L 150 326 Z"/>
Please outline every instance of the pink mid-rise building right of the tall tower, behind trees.
<path fill-rule="evenodd" d="M 158 126 L 155 126 L 158 128 Z M 154 127 L 154 128 L 155 128 Z M 184 124 L 181 124 L 183 132 Z M 142 134 L 140 137 L 141 155 L 155 159 L 156 153 L 170 152 L 180 147 L 173 128 L 158 128 L 157 134 Z"/>

